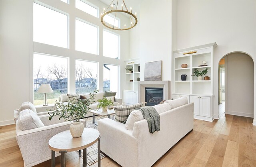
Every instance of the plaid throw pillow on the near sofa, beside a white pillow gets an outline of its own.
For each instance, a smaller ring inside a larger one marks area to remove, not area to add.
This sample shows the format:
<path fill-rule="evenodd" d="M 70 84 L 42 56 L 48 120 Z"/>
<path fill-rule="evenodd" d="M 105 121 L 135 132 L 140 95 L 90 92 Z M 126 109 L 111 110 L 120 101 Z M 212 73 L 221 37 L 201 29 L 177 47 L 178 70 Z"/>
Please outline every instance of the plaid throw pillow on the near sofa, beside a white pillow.
<path fill-rule="evenodd" d="M 123 106 L 115 106 L 115 118 L 114 120 L 117 122 L 122 122 L 123 124 L 126 123 L 126 120 L 130 113 L 135 110 L 136 108 L 142 107 L 143 103 L 137 103 L 134 105 L 123 105 Z"/>

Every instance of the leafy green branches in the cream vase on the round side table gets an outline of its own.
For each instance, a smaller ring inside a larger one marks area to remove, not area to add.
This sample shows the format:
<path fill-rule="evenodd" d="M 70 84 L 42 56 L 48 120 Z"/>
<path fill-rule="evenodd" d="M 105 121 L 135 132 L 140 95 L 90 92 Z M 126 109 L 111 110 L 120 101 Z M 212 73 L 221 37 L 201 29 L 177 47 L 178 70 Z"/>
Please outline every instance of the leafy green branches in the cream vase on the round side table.
<path fill-rule="evenodd" d="M 60 118 L 64 118 L 68 121 L 79 122 L 80 119 L 84 118 L 87 112 L 91 110 L 89 106 L 92 102 L 95 102 L 94 95 L 98 92 L 99 90 L 95 90 L 93 93 L 90 93 L 90 98 L 86 99 L 86 102 L 79 100 L 78 103 L 68 102 L 68 104 L 65 105 L 56 100 L 54 108 L 48 110 L 48 114 L 50 115 L 49 120 L 51 120 L 53 116 L 60 116 Z"/>

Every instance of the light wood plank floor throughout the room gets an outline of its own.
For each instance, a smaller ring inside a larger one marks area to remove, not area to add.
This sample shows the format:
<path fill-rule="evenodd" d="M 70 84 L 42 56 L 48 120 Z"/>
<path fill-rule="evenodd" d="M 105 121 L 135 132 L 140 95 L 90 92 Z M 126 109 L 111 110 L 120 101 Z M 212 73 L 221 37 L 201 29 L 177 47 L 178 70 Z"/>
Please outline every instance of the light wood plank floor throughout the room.
<path fill-rule="evenodd" d="M 146 159 L 145 159 L 146 161 Z M 119 166 L 106 157 L 102 167 Z M 67 167 L 82 167 L 75 152 L 66 154 Z M 23 160 L 16 142 L 15 126 L 0 127 L 0 166 L 22 167 Z M 50 160 L 36 167 L 48 167 Z M 56 158 L 56 167 L 60 157 Z M 91 167 L 97 167 L 94 163 Z M 167 151 L 154 167 L 256 167 L 256 126 L 252 118 L 222 114 L 219 120 L 194 120 L 192 132 Z"/>

